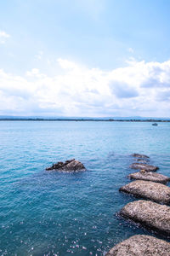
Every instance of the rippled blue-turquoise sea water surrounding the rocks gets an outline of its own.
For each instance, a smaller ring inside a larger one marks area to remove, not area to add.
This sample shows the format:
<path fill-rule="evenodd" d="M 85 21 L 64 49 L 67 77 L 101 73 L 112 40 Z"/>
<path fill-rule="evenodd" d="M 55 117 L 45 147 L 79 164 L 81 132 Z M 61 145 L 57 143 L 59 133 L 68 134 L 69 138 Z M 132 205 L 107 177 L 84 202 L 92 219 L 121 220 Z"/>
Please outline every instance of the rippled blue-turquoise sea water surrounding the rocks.
<path fill-rule="evenodd" d="M 0 255 L 97 256 L 150 234 L 116 216 L 135 200 L 118 189 L 134 152 L 169 175 L 169 142 L 170 123 L 1 121 Z M 45 171 L 71 158 L 87 171 Z"/>

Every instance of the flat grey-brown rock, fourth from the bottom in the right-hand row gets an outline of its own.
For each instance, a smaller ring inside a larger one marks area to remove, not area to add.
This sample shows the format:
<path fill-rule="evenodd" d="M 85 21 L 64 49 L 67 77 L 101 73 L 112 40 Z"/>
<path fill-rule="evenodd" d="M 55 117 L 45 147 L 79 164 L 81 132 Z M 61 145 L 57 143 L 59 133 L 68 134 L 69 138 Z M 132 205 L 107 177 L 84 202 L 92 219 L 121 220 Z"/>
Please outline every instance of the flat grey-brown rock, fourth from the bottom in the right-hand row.
<path fill-rule="evenodd" d="M 141 170 L 140 172 L 131 173 L 127 177 L 131 179 L 146 180 L 163 184 L 166 184 L 168 181 L 170 181 L 170 177 L 164 176 L 157 172 L 145 172 L 144 170 Z"/>

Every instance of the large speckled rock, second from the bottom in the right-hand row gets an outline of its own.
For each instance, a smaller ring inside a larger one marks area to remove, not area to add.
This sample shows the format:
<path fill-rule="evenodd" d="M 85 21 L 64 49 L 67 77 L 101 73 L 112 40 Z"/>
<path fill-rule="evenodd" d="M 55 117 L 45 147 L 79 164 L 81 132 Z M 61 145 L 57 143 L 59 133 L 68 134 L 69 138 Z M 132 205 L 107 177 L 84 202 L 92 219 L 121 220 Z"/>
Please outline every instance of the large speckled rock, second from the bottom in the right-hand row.
<path fill-rule="evenodd" d="M 122 208 L 120 215 L 138 224 L 170 235 L 170 207 L 153 201 L 133 201 Z"/>

